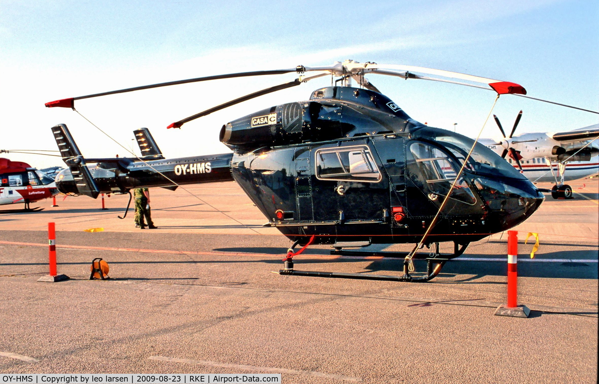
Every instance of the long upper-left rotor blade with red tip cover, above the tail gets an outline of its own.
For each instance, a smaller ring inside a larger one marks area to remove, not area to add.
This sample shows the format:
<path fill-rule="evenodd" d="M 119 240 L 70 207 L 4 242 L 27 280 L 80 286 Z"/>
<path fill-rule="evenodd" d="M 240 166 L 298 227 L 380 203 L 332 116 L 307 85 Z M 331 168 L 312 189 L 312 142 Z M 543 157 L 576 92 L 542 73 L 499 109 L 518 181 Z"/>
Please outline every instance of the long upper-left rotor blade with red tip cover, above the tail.
<path fill-rule="evenodd" d="M 139 91 L 139 90 L 143 90 L 143 89 L 152 89 L 152 88 L 158 88 L 158 87 L 176 86 L 178 84 L 196 83 L 198 81 L 220 80 L 220 79 L 235 78 L 235 77 L 280 75 L 280 74 L 287 74 L 289 72 L 304 72 L 304 71 L 312 71 L 312 70 L 317 70 L 317 69 L 305 68 L 304 66 L 297 66 L 297 68 L 274 69 L 271 71 L 238 72 L 235 74 L 196 77 L 196 78 L 191 78 L 191 79 L 186 79 L 186 80 L 176 80 L 176 81 L 167 81 L 166 83 L 150 84 L 148 86 L 131 87 L 131 88 L 119 89 L 119 90 L 108 91 L 108 92 L 93 93 L 92 95 L 71 97 L 69 99 L 60 99 L 60 100 L 47 102 L 46 106 L 49 108 L 52 108 L 54 106 L 60 106 L 63 108 L 74 108 L 75 100 L 89 99 L 90 97 L 114 95 L 116 93 L 133 92 L 133 91 Z"/>

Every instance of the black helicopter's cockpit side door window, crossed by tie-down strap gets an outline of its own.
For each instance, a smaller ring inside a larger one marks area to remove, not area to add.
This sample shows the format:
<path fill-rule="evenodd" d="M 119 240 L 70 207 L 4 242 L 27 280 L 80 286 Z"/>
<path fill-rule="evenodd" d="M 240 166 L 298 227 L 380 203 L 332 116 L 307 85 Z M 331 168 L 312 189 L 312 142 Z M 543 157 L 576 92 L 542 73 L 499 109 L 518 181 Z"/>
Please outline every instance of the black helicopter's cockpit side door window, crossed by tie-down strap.
<path fill-rule="evenodd" d="M 429 190 L 435 194 L 447 196 L 459 167 L 447 154 L 432 145 L 416 142 L 410 145 L 410 151 L 418 163 L 422 176 L 426 179 Z M 476 203 L 476 197 L 462 176 L 456 182 L 449 198 L 469 205 Z"/>

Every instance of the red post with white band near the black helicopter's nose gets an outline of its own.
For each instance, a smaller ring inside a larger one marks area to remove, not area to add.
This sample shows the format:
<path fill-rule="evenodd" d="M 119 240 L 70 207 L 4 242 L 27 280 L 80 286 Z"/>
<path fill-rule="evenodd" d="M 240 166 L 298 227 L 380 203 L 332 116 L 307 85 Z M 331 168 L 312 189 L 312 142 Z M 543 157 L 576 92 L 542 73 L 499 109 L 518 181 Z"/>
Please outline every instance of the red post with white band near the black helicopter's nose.
<path fill-rule="evenodd" d="M 527 318 L 529 313 L 527 306 L 518 305 L 518 231 L 507 231 L 507 304 L 501 304 L 495 315 Z"/>

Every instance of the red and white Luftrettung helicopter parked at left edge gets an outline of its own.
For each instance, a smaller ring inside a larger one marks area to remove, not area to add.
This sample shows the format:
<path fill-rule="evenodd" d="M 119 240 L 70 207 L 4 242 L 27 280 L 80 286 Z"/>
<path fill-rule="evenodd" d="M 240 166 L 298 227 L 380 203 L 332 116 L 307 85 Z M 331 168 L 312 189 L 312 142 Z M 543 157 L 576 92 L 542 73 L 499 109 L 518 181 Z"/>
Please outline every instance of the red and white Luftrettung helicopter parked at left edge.
<path fill-rule="evenodd" d="M 23 209 L 0 212 L 39 212 L 43 208 L 30 208 L 29 203 L 58 194 L 56 182 L 46 173 L 23 161 L 0 158 L 0 205 L 24 203 Z"/>

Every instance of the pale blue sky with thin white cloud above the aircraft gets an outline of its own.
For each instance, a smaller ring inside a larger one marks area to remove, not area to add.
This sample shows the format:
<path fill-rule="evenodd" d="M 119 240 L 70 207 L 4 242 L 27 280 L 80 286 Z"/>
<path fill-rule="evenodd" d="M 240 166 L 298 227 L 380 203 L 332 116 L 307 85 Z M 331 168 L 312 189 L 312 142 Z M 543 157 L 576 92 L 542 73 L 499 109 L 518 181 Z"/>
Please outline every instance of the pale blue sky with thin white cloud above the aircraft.
<path fill-rule="evenodd" d="M 488 4 L 486 4 L 488 3 Z M 0 149 L 56 149 L 50 127 L 65 123 L 86 156 L 125 150 L 76 112 L 44 102 L 124 87 L 334 61 L 425 66 L 522 84 L 528 95 L 599 109 L 599 5 L 592 1 L 0 1 Z M 78 111 L 132 147 L 148 127 L 167 157 L 224 153 L 222 124 L 271 105 L 304 100 L 329 78 L 165 127 L 295 74 L 187 84 L 76 103 Z M 371 75 L 385 95 L 431 126 L 476 136 L 494 94 Z M 495 107 L 509 129 L 559 131 L 597 115 L 516 96 Z M 483 137 L 498 135 L 491 121 Z M 33 166 L 58 158 L 19 156 Z"/>

